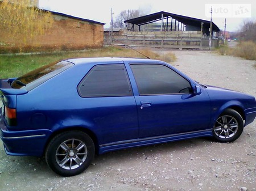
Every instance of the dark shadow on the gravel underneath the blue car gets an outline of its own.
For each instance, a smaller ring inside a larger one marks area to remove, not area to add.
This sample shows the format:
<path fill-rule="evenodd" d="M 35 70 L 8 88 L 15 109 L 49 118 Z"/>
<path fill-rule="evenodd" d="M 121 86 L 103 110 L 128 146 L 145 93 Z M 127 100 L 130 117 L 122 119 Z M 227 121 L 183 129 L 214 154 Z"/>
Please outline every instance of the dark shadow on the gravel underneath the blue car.
<path fill-rule="evenodd" d="M 205 145 L 211 145 L 212 139 L 210 138 L 193 138 L 183 141 L 175 141 L 169 143 L 162 143 L 151 146 L 141 146 L 126 148 L 118 151 L 107 152 L 102 155 L 96 155 L 93 159 L 92 165 L 86 171 L 94 171 L 97 168 L 102 168 L 109 164 L 125 163 L 126 160 L 136 160 L 138 158 L 152 158 L 156 155 L 168 154 L 171 152 L 181 152 L 189 148 L 201 148 Z M 3 149 L 0 150 L 0 177 L 4 174 L 10 176 L 18 176 L 26 174 L 28 176 L 38 177 L 60 177 L 56 173 L 52 172 L 48 167 L 44 158 L 38 158 L 35 156 L 8 156 Z M 85 172 L 86 172 L 85 171 Z"/>

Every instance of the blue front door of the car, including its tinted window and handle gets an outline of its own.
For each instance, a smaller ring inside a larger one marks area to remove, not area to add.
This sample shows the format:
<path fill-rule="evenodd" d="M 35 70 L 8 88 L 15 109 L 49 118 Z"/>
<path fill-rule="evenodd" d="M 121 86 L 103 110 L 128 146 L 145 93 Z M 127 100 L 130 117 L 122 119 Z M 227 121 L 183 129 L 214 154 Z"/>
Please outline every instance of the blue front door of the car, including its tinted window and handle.
<path fill-rule="evenodd" d="M 187 133 L 209 128 L 205 91 L 192 94 L 189 80 L 166 65 L 130 64 L 138 88 L 139 137 Z"/>

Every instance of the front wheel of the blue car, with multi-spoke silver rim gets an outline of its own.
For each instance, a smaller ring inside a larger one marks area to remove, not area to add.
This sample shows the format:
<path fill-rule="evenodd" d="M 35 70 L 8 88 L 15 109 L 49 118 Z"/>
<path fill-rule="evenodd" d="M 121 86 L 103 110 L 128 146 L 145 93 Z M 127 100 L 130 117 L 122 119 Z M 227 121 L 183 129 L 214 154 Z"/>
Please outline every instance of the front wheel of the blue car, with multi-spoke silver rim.
<path fill-rule="evenodd" d="M 213 126 L 213 138 L 218 142 L 236 141 L 242 132 L 243 118 L 234 109 L 226 109 L 221 113 Z"/>

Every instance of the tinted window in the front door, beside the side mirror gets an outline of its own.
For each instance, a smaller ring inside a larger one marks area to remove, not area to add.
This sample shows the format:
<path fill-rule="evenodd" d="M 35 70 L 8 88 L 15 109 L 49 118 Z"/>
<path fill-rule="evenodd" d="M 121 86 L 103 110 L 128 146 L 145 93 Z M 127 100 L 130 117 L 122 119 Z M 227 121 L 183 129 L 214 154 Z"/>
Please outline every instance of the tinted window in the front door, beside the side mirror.
<path fill-rule="evenodd" d="M 140 95 L 189 94 L 191 84 L 174 70 L 158 64 L 131 64 Z"/>

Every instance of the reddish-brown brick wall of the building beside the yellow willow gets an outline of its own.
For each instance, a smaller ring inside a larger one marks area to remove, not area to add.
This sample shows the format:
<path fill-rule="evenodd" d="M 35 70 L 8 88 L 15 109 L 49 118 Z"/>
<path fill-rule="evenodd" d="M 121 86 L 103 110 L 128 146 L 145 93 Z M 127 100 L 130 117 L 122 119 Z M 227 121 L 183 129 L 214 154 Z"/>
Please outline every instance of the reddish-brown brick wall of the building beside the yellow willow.
<path fill-rule="evenodd" d="M 8 37 L 8 33 L 4 32 L 0 26 L 0 53 L 6 52 L 3 49 L 7 49 L 7 47 L 17 49 L 20 45 L 23 47 L 22 52 L 28 52 L 29 49 L 32 51 L 80 50 L 103 46 L 104 28 L 102 24 L 61 15 L 52 16 L 54 18 L 52 27 L 44 35 L 36 36 L 33 39 L 27 38 L 26 44 L 21 37 Z"/>

